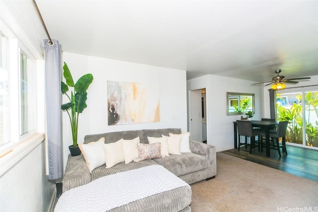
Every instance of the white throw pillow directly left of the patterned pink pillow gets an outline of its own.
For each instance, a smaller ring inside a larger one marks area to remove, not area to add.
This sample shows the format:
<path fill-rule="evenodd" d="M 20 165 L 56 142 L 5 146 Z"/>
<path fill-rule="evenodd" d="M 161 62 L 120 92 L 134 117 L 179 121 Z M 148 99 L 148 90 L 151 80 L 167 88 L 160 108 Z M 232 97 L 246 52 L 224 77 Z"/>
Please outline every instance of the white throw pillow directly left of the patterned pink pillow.
<path fill-rule="evenodd" d="M 134 159 L 137 159 L 139 157 L 139 152 L 137 148 L 137 143 L 140 143 L 139 137 L 133 140 L 121 139 L 121 141 L 123 146 L 125 164 L 130 163 Z"/>

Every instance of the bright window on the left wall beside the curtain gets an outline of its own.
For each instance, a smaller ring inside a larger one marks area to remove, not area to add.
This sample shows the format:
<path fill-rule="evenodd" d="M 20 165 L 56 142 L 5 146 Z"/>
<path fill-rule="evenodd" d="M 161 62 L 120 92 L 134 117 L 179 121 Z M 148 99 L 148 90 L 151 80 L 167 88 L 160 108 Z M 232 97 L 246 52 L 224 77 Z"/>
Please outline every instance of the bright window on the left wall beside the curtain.
<path fill-rule="evenodd" d="M 36 132 L 35 61 L 0 32 L 0 147 Z"/>

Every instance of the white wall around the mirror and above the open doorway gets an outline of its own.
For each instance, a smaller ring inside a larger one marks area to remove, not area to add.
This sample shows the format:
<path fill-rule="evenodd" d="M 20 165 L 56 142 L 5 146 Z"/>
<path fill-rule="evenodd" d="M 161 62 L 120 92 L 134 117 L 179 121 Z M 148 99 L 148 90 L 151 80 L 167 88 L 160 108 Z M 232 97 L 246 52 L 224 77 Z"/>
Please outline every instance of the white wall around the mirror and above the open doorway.
<path fill-rule="evenodd" d="M 253 119 L 259 120 L 264 116 L 263 87 L 250 86 L 251 83 L 255 82 L 211 74 L 187 81 L 187 90 L 206 88 L 207 143 L 216 146 L 217 151 L 234 148 L 233 122 L 241 116 L 227 116 L 227 92 L 254 93 Z"/>

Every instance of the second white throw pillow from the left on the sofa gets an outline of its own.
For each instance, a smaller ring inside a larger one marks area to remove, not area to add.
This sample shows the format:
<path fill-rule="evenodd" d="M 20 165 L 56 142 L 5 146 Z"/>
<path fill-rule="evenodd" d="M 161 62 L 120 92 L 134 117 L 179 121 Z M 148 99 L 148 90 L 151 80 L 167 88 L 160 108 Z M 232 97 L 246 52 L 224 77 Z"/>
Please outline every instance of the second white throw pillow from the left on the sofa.
<path fill-rule="evenodd" d="M 118 163 L 124 162 L 124 152 L 122 146 L 122 140 L 114 143 L 106 143 L 104 145 L 106 168 L 110 168 Z"/>

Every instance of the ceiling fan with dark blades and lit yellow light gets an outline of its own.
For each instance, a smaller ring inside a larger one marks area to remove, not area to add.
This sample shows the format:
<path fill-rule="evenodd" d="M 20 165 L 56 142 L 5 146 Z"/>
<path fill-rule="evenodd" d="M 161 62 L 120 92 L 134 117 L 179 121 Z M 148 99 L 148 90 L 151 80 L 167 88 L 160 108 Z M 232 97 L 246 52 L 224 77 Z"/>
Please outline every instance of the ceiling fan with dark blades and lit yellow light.
<path fill-rule="evenodd" d="M 259 82 L 259 83 L 254 83 L 254 84 L 251 84 L 251 85 L 257 85 L 257 84 L 268 83 L 268 84 L 265 84 L 264 86 L 273 84 L 270 88 L 276 90 L 276 89 L 284 89 L 284 88 L 286 87 L 286 85 L 285 85 L 284 83 L 296 84 L 296 83 L 298 83 L 298 81 L 293 81 L 293 80 L 310 79 L 310 78 L 311 78 L 311 77 L 298 77 L 298 78 L 285 79 L 285 76 L 279 75 L 279 73 L 280 73 L 281 71 L 282 71 L 282 70 L 280 70 L 280 69 L 277 69 L 277 70 L 274 71 L 275 73 L 277 73 L 277 76 L 274 76 L 274 77 L 272 78 L 272 81 Z"/>

